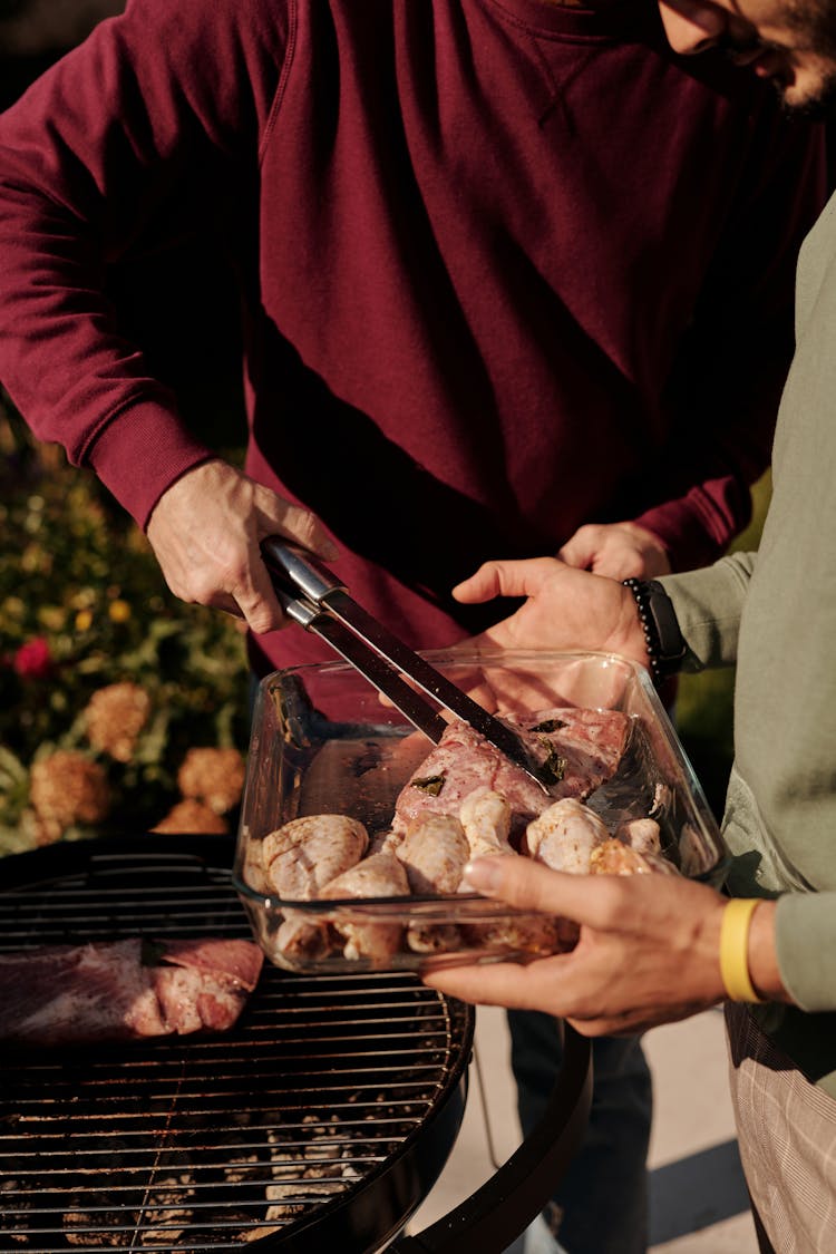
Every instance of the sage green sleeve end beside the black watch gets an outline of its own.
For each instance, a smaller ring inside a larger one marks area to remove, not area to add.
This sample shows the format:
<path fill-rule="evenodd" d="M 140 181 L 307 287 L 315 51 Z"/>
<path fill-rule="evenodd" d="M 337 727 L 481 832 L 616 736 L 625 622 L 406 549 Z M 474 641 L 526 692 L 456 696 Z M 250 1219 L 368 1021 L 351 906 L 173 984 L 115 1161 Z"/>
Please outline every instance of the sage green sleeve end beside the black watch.
<path fill-rule="evenodd" d="M 732 553 L 703 569 L 659 579 L 687 646 L 684 671 L 737 661 L 737 635 L 756 559 L 756 553 Z"/>

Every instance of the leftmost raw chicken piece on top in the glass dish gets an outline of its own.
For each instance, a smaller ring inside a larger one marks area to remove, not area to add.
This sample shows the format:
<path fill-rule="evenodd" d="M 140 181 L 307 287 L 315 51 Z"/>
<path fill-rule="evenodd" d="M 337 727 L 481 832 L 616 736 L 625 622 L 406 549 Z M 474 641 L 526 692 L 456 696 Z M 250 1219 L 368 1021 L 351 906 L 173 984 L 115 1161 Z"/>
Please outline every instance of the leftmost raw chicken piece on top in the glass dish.
<path fill-rule="evenodd" d="M 367 848 L 368 835 L 356 819 L 308 814 L 264 836 L 262 861 L 271 892 L 287 902 L 310 902 L 356 865 Z"/>

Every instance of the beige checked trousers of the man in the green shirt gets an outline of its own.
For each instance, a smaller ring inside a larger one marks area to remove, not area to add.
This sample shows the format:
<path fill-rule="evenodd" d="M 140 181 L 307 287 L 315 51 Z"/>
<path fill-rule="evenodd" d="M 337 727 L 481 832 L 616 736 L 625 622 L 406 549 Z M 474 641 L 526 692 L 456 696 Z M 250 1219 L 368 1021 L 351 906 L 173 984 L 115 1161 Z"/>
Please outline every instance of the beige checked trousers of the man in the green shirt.
<path fill-rule="evenodd" d="M 836 1101 L 726 1006 L 741 1160 L 763 1254 L 836 1250 Z"/>

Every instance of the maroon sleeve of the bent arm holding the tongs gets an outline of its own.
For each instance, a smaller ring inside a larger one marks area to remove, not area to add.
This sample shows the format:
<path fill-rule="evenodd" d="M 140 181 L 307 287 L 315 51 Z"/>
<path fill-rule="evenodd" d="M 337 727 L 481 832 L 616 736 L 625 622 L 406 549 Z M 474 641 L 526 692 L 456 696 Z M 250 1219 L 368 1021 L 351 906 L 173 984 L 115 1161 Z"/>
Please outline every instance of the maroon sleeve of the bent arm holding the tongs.
<path fill-rule="evenodd" d="M 143 527 L 209 450 L 123 326 L 108 266 L 194 232 L 232 240 L 285 8 L 130 0 L 0 118 L 0 379 Z"/>

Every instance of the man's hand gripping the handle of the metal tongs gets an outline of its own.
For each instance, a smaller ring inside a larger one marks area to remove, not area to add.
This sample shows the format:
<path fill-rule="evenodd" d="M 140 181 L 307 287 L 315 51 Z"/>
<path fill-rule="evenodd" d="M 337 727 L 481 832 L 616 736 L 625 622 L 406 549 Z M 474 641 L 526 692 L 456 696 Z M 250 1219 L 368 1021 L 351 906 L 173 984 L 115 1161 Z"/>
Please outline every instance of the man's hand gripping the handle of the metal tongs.
<path fill-rule="evenodd" d="M 315 514 L 218 459 L 173 483 L 148 523 L 148 539 L 174 596 L 243 617 L 258 633 L 287 622 L 261 559 L 259 544 L 268 535 L 296 540 L 325 559 L 336 556 Z"/>

